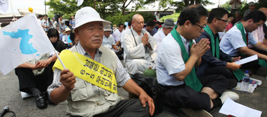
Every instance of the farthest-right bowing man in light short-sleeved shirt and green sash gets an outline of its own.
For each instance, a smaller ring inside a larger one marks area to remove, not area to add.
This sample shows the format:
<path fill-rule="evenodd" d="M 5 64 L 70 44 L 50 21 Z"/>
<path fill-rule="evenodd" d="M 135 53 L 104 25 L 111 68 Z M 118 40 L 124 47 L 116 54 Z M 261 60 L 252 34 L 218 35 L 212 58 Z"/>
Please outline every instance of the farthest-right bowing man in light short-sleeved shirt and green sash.
<path fill-rule="evenodd" d="M 254 73 L 260 66 L 267 67 L 267 55 L 254 51 L 247 47 L 252 45 L 255 49 L 267 52 L 267 46 L 258 42 L 253 36 L 254 30 L 258 29 L 266 21 L 266 16 L 259 10 L 252 11 L 244 17 L 238 25 L 227 31 L 220 42 L 221 50 L 231 56 L 240 56 L 241 59 L 257 54 L 259 60 L 243 64 L 240 69 L 251 69 Z"/>

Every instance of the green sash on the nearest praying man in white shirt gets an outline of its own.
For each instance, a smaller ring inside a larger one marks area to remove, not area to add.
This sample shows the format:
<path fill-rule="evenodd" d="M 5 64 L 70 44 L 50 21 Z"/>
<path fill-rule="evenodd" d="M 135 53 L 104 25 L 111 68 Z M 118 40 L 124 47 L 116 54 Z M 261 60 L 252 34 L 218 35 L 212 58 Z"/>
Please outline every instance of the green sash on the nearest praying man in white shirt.
<path fill-rule="evenodd" d="M 171 35 L 173 35 L 173 37 L 175 38 L 177 43 L 180 45 L 180 48 L 181 48 L 181 51 L 182 51 L 182 55 L 183 55 L 183 61 L 184 61 L 184 63 L 186 63 L 188 61 L 188 59 L 189 59 L 189 55 L 185 50 L 182 38 L 181 38 L 180 34 L 176 31 L 176 28 L 177 27 L 175 27 L 174 30 L 171 31 L 170 33 L 171 33 Z M 192 44 L 193 44 L 193 40 L 190 40 L 189 47 L 191 47 Z M 197 77 L 196 72 L 195 72 L 195 67 L 185 77 L 184 82 L 185 82 L 185 84 L 187 86 L 191 87 L 195 91 L 201 91 L 201 89 L 202 89 L 202 84 L 198 80 L 198 77 Z"/>

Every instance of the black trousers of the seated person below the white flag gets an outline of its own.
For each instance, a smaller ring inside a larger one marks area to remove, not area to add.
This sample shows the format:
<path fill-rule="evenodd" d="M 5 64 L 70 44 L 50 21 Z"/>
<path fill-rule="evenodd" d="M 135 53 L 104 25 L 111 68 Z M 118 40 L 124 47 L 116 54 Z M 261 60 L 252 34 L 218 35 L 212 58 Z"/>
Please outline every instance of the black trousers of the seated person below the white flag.
<path fill-rule="evenodd" d="M 39 89 L 41 92 L 45 92 L 47 87 L 53 82 L 53 70 L 52 67 L 55 62 L 52 62 L 41 75 L 35 76 L 30 68 L 15 68 L 15 74 L 18 77 L 20 84 L 20 91 L 26 93 L 32 93 L 29 87 Z"/>

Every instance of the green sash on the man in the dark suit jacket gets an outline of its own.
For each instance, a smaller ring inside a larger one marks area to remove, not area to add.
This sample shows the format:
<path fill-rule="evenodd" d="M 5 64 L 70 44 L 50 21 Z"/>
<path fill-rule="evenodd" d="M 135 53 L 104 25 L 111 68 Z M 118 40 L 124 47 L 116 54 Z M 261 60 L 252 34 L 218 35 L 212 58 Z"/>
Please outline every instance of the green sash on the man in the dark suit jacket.
<path fill-rule="evenodd" d="M 215 56 L 215 48 L 216 48 L 216 57 L 218 59 L 220 59 L 220 48 L 219 48 L 219 39 L 218 39 L 218 37 L 216 38 L 216 44 L 215 44 L 215 40 L 214 40 L 214 36 L 213 36 L 211 28 L 209 28 L 208 25 L 206 25 L 204 30 L 209 34 L 209 36 L 211 36 L 212 54 L 213 54 L 213 56 Z M 238 69 L 236 71 L 233 71 L 233 73 L 235 74 L 235 76 L 236 76 L 238 81 L 242 80 L 242 77 L 244 76 L 244 72 L 242 70 Z"/>

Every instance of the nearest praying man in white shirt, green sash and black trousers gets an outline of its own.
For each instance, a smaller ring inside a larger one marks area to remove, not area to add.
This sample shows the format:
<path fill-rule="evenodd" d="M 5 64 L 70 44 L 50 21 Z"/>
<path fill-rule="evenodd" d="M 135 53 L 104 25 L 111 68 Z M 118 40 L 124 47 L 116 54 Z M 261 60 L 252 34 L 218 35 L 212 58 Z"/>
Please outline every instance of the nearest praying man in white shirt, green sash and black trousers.
<path fill-rule="evenodd" d="M 207 111 L 220 106 L 227 97 L 228 81 L 223 75 L 197 77 L 195 67 L 210 48 L 207 38 L 195 44 L 204 31 L 208 13 L 203 6 L 187 6 L 179 16 L 178 26 L 163 38 L 157 57 L 157 79 L 164 92 L 163 103 L 180 107 L 189 116 L 212 116 Z"/>

